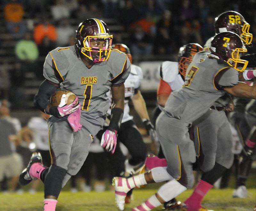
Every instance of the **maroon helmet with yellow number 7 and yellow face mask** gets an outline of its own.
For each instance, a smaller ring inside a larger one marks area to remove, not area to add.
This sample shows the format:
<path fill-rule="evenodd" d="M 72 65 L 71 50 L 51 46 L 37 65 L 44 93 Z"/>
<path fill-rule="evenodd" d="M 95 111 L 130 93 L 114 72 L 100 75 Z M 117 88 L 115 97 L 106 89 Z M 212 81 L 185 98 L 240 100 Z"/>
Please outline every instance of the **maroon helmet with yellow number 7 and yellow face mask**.
<path fill-rule="evenodd" d="M 220 60 L 226 61 L 236 70 L 243 72 L 248 61 L 240 59 L 241 52 L 247 52 L 242 39 L 234 32 L 221 32 L 216 34 L 211 42 L 210 51 L 218 56 Z M 238 68 L 238 64 L 243 64 L 242 69 Z"/>

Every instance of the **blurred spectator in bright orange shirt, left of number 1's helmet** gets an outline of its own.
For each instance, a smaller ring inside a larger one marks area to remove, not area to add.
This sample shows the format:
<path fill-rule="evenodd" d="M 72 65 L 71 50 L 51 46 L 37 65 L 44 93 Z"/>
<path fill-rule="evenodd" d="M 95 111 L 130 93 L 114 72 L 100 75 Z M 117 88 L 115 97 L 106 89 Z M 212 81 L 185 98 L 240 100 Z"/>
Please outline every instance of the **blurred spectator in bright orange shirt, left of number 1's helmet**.
<path fill-rule="evenodd" d="M 33 36 L 37 45 L 42 43 L 45 36 L 55 42 L 57 40 L 56 27 L 50 23 L 49 19 L 44 18 L 42 23 L 35 26 Z M 52 49 L 54 49 L 54 46 Z"/>

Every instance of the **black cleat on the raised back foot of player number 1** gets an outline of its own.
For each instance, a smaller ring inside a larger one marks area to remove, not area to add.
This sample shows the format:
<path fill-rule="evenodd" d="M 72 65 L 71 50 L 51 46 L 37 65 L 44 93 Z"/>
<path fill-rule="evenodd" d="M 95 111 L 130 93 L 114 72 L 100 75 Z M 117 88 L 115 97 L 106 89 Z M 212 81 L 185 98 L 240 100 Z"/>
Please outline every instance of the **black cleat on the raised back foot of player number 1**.
<path fill-rule="evenodd" d="M 20 185 L 28 185 L 32 180 L 36 180 L 36 177 L 32 177 L 29 175 L 30 167 L 33 163 L 40 162 L 43 165 L 42 156 L 38 152 L 34 152 L 30 158 L 30 162 L 28 163 L 28 167 L 22 171 L 19 178 Z"/>

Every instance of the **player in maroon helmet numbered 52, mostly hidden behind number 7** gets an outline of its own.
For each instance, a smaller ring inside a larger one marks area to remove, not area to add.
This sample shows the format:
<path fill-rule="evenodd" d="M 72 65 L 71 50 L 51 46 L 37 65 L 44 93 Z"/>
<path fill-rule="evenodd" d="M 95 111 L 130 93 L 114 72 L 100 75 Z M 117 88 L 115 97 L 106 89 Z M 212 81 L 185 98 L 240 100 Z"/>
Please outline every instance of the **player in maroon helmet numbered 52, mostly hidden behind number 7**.
<path fill-rule="evenodd" d="M 216 34 L 232 31 L 240 36 L 244 44 L 247 46 L 251 44 L 252 34 L 249 33 L 250 25 L 238 12 L 227 11 L 220 14 L 215 19 L 214 27 Z M 245 57 L 243 59 L 246 60 Z M 241 71 L 238 67 L 239 65 L 237 63 L 239 81 L 255 77 L 255 74 L 253 75 L 250 70 Z M 234 103 L 232 98 L 230 95 L 225 94 L 214 102 L 206 114 L 193 122 L 194 142 L 198 157 L 197 163 L 200 170 L 202 170 L 202 177 L 194 192 L 184 201 L 185 204 L 182 209 L 185 211 L 199 210 L 202 207 L 201 201 L 203 197 L 212 188 L 217 179 L 233 164 L 232 134 L 228 118 L 225 114 L 225 112 L 233 110 Z M 198 192 L 201 192 L 201 194 L 198 194 Z"/>

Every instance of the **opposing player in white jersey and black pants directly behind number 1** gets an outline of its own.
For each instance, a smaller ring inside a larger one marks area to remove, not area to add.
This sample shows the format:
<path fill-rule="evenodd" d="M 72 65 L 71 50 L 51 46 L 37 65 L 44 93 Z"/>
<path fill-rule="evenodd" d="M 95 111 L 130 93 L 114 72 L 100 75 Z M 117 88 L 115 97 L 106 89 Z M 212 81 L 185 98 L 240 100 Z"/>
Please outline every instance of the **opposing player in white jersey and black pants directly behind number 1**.
<path fill-rule="evenodd" d="M 140 172 L 140 168 L 143 166 L 145 158 L 148 153 L 147 146 L 143 141 L 143 137 L 139 129 L 135 125 L 133 116 L 130 115 L 129 101 L 132 101 L 135 111 L 140 116 L 148 132 L 148 135 L 150 135 L 151 139 L 153 139 L 152 140 L 153 142 L 156 141 L 156 131 L 154 126 L 151 124 L 149 120 L 146 103 L 139 89 L 141 80 L 143 79 L 143 73 L 141 68 L 137 65 L 132 64 L 132 56 L 130 53 L 130 49 L 126 45 L 122 43 L 116 43 L 112 45 L 112 50 L 118 51 L 118 52 L 124 52 L 128 56 L 131 62 L 130 75 L 124 82 L 124 87 L 125 87 L 124 116 L 123 116 L 120 129 L 118 130 L 118 137 L 117 137 L 117 140 L 118 140 L 117 143 L 119 142 L 123 143 L 124 146 L 128 149 L 129 158 L 126 161 L 124 161 L 125 157 L 122 154 L 122 151 L 118 144 L 116 146 L 115 153 L 109 154 L 108 157 L 112 164 L 112 167 L 114 168 L 115 176 L 129 177 L 133 174 Z M 112 99 L 111 91 L 109 91 L 107 95 L 109 99 Z M 109 109 L 108 117 L 110 117 L 110 115 L 111 115 L 111 110 Z M 102 131 L 99 132 L 99 135 L 97 136 L 101 138 L 101 134 L 102 134 Z M 124 174 L 124 172 L 126 174 Z M 125 203 L 130 203 L 131 194 L 132 192 L 129 192 L 127 194 L 127 197 L 125 198 Z"/>

